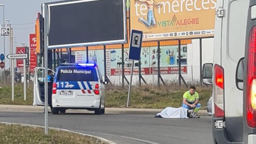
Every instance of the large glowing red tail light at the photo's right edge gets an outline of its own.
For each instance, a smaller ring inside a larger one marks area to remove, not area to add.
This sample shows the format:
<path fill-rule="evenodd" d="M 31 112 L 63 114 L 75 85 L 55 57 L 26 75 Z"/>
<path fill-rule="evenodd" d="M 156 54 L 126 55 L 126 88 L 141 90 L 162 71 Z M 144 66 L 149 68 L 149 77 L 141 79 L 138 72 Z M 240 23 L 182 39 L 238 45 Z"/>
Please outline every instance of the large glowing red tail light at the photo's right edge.
<path fill-rule="evenodd" d="M 246 84 L 246 119 L 248 126 L 256 128 L 256 26 L 250 32 Z"/>

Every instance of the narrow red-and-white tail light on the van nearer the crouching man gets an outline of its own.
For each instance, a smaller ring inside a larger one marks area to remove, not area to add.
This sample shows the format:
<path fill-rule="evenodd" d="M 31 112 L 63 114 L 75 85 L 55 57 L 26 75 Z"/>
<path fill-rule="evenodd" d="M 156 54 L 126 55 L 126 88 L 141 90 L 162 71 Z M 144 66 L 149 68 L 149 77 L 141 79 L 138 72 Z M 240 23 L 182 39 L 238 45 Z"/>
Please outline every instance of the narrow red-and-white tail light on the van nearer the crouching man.
<path fill-rule="evenodd" d="M 214 66 L 214 110 L 216 117 L 224 117 L 224 69 Z"/>

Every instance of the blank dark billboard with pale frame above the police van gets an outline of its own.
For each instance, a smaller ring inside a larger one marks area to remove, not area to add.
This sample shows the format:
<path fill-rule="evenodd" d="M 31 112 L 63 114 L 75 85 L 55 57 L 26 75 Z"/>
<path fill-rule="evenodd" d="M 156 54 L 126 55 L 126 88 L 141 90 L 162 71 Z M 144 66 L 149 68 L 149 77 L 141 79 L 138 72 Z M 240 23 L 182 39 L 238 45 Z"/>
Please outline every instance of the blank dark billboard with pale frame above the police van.
<path fill-rule="evenodd" d="M 118 44 L 127 41 L 125 0 L 45 3 L 48 48 Z"/>

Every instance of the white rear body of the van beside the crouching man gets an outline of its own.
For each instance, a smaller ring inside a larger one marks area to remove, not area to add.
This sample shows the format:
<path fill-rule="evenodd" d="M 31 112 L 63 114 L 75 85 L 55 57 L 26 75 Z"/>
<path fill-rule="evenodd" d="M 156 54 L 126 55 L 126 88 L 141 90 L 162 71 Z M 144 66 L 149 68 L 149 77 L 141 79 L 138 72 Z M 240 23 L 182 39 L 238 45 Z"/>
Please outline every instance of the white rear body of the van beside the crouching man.
<path fill-rule="evenodd" d="M 218 64 L 224 69 L 225 117 L 212 116 L 212 131 L 217 144 L 242 144 L 243 92 L 236 87 L 236 67 L 240 58 L 244 57 L 249 1 L 224 0 L 221 2 L 223 2 L 224 17 L 221 18 L 222 25 L 220 25 L 220 17 L 216 17 L 214 65 Z M 212 109 L 214 114 L 214 102 Z M 224 128 L 216 129 L 216 120 L 223 120 Z"/>

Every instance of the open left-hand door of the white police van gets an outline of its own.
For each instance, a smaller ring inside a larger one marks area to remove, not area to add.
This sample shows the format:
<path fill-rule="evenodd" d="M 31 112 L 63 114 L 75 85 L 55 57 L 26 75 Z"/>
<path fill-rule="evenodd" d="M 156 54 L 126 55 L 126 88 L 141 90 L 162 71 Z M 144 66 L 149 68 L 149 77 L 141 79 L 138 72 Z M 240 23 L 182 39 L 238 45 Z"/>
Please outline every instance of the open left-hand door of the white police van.
<path fill-rule="evenodd" d="M 51 71 L 54 74 L 54 71 L 53 70 Z M 35 70 L 33 105 L 44 106 L 44 68 L 40 68 L 40 67 L 36 67 L 36 70 Z"/>

